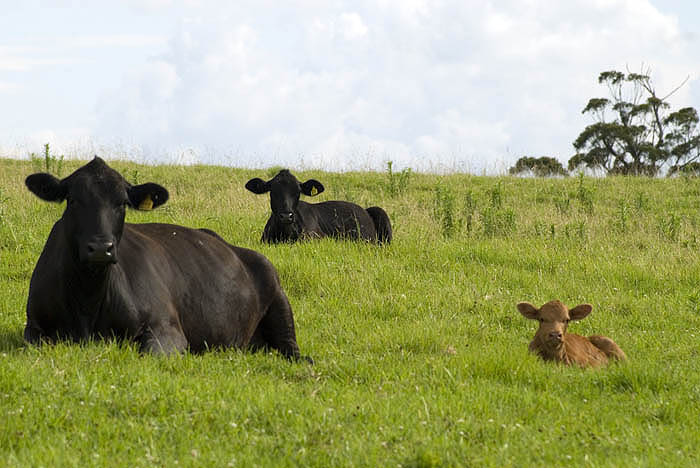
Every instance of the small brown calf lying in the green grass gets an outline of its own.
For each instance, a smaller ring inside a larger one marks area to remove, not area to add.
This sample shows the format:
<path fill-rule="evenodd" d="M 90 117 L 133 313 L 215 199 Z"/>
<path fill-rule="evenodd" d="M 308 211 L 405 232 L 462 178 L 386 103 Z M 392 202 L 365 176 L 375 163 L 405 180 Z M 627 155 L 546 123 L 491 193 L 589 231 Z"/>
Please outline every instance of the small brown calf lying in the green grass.
<path fill-rule="evenodd" d="M 620 347 L 608 337 L 593 335 L 586 338 L 566 333 L 569 321 L 581 320 L 591 313 L 593 306 L 590 304 L 577 305 L 569 310 L 560 301 L 554 300 L 539 309 L 529 302 L 521 302 L 517 307 L 525 318 L 540 322 L 529 348 L 545 361 L 597 367 L 607 364 L 608 359 L 627 359 Z"/>

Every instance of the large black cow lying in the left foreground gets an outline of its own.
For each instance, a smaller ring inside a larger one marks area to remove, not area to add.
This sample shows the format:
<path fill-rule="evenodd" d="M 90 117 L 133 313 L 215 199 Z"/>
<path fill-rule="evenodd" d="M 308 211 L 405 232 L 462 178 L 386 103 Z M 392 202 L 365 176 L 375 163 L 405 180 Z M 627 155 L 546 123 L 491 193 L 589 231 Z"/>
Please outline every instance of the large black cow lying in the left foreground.
<path fill-rule="evenodd" d="M 32 274 L 28 342 L 117 338 L 152 353 L 232 346 L 300 357 L 265 257 L 206 229 L 124 222 L 127 207 L 165 203 L 165 188 L 131 185 L 98 157 L 65 179 L 33 174 L 26 185 L 67 201 Z"/>

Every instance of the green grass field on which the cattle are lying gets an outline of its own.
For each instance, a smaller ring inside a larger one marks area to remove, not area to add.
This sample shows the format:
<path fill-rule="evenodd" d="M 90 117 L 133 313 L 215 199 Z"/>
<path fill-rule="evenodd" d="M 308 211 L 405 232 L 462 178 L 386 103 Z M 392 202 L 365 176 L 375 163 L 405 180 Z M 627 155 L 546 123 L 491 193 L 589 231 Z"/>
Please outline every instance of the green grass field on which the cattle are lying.
<path fill-rule="evenodd" d="M 700 180 L 299 172 L 386 209 L 394 242 L 262 245 L 271 170 L 112 162 L 170 190 L 127 220 L 208 227 L 277 267 L 303 354 L 159 358 L 22 341 L 63 206 L 0 160 L 0 466 L 700 466 Z M 66 161 L 65 176 L 80 163 Z M 593 313 L 629 361 L 527 351 L 515 304 Z"/>

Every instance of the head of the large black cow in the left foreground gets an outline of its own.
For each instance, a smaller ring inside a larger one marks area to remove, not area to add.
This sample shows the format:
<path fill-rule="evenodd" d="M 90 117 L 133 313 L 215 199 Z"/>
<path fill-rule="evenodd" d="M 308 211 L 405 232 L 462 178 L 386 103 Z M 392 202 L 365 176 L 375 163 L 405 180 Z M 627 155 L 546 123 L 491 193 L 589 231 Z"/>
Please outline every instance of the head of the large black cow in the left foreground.
<path fill-rule="evenodd" d="M 65 179 L 39 173 L 27 177 L 25 184 L 42 200 L 66 200 L 66 239 L 75 257 L 93 266 L 117 263 L 126 207 L 150 210 L 168 200 L 165 188 L 131 185 L 97 156 Z"/>

